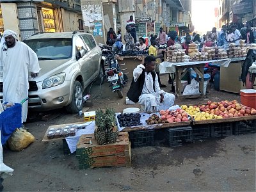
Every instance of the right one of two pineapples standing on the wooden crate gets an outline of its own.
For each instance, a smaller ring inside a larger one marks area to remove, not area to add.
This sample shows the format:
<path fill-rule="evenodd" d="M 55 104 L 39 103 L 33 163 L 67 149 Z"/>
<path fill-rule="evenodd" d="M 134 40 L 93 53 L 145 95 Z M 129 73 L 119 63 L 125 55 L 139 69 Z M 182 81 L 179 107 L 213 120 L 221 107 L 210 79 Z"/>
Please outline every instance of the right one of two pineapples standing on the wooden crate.
<path fill-rule="evenodd" d="M 118 138 L 118 127 L 116 126 L 115 111 L 113 108 L 106 109 L 106 128 L 108 143 L 115 143 Z"/>

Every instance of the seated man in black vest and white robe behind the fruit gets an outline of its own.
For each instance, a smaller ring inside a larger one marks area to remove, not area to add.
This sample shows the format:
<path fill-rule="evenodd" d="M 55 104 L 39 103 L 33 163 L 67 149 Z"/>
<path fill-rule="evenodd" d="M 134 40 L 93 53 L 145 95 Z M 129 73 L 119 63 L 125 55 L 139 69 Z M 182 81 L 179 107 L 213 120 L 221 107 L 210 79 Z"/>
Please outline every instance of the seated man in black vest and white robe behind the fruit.
<path fill-rule="evenodd" d="M 160 89 L 158 77 L 154 72 L 156 58 L 147 56 L 144 64 L 133 70 L 131 87 L 127 97 L 133 102 L 145 106 L 145 112 L 159 111 L 170 108 L 174 104 L 175 96 Z"/>

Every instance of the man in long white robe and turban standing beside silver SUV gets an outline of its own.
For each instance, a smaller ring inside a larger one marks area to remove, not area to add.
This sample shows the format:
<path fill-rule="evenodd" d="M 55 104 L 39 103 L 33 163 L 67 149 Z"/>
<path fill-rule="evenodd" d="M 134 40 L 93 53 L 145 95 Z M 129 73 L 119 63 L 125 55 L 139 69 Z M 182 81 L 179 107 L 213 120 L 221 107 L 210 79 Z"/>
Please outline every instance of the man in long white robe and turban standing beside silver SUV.
<path fill-rule="evenodd" d="M 40 70 L 36 53 L 23 42 L 17 41 L 17 33 L 6 30 L 0 52 L 0 68 L 3 72 L 3 101 L 20 103 L 28 98 L 28 78 L 38 76 Z M 22 104 L 22 123 L 26 122 L 28 100 Z"/>

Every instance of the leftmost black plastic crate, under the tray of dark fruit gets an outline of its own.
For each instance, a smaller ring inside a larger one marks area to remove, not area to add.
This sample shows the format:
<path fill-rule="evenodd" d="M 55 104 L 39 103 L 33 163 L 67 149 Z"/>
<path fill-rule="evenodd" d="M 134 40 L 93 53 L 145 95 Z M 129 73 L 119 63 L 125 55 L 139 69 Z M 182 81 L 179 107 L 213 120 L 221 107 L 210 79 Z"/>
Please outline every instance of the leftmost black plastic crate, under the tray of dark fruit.
<path fill-rule="evenodd" d="M 154 145 L 154 129 L 143 131 L 130 131 L 131 147 L 143 147 Z"/>

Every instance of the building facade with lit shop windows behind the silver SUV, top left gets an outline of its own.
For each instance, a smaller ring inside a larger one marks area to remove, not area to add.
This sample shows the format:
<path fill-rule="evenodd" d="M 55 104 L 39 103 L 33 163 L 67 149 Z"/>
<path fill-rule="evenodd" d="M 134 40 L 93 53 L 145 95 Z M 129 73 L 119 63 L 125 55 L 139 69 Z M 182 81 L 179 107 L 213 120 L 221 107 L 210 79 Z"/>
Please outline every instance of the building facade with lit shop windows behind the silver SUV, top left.
<path fill-rule="evenodd" d="M 80 1 L 1 0 L 0 32 L 12 29 L 24 40 L 34 33 L 83 29 Z"/>

